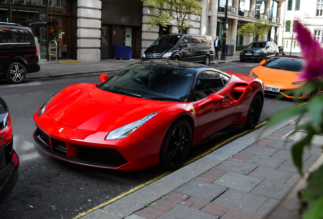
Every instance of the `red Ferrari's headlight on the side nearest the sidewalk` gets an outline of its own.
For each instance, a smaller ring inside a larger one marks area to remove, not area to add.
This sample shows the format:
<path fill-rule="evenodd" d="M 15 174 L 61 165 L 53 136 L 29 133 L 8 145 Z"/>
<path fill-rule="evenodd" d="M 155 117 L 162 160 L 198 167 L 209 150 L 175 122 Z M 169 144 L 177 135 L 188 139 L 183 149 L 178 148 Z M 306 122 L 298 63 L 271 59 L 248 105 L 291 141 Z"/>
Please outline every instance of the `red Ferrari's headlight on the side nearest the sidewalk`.
<path fill-rule="evenodd" d="M 136 122 L 127 124 L 125 126 L 122 126 L 120 128 L 117 128 L 113 131 L 111 131 L 108 136 L 106 137 L 107 140 L 115 140 L 115 139 L 121 139 L 129 136 L 131 133 L 136 131 L 140 126 L 148 122 L 151 118 L 156 116 L 158 113 L 152 113 L 140 120 L 137 120 Z"/>

